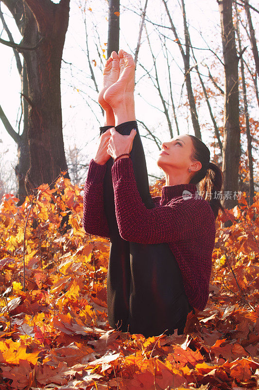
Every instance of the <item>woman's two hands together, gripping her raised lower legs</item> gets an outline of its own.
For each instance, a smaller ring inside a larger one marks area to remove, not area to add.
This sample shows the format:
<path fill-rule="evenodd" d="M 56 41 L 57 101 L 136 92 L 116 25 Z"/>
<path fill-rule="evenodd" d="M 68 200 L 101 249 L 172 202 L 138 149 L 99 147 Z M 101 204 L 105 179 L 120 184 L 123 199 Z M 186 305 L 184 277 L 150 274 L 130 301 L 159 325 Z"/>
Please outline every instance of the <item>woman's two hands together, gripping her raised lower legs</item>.
<path fill-rule="evenodd" d="M 122 136 L 115 128 L 106 130 L 99 137 L 99 145 L 94 157 L 97 164 L 104 165 L 109 158 L 115 159 L 122 153 L 130 153 L 132 150 L 133 140 L 137 131 L 132 129 L 129 136 Z M 119 159 L 127 157 L 121 156 Z"/>

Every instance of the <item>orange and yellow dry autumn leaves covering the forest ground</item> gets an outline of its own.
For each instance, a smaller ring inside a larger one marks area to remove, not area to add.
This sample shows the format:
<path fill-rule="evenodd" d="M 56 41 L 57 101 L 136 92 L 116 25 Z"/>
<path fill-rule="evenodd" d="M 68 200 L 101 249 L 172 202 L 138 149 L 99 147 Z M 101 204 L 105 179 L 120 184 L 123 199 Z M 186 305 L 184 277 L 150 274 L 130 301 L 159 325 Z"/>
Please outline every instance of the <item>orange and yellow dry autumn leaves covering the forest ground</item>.
<path fill-rule="evenodd" d="M 109 240 L 84 232 L 82 195 L 60 177 L 20 207 L 2 200 L 0 389 L 259 388 L 259 196 L 217 222 L 206 310 L 146 339 L 107 322 Z"/>

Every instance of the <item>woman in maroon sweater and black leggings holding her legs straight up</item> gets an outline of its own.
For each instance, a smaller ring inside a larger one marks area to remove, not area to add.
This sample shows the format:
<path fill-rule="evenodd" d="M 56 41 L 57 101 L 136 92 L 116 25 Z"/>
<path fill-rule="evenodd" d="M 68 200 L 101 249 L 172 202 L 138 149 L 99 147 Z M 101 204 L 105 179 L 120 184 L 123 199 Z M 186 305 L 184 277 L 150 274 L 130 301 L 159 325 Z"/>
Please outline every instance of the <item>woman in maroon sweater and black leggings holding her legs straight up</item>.
<path fill-rule="evenodd" d="M 145 337 L 183 333 L 188 312 L 204 310 L 215 243 L 222 172 L 209 150 L 184 134 L 162 144 L 166 176 L 151 197 L 134 105 L 135 62 L 120 50 L 104 68 L 99 103 L 105 111 L 98 150 L 84 188 L 86 233 L 110 238 L 107 272 L 111 327 Z M 115 128 L 114 128 L 115 126 Z M 135 129 L 135 130 L 134 130 Z M 112 157 L 112 158 L 111 158 Z M 207 200 L 197 195 L 211 193 Z"/>

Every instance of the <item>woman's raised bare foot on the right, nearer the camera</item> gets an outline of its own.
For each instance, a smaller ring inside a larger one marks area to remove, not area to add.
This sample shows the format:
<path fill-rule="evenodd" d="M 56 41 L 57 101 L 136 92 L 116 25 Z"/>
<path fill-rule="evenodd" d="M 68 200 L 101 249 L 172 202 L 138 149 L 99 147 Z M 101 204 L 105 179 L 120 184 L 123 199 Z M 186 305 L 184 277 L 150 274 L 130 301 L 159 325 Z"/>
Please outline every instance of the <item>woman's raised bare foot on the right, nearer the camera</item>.
<path fill-rule="evenodd" d="M 125 102 L 134 100 L 136 64 L 131 54 L 122 49 L 119 50 L 119 59 L 119 79 L 104 92 L 104 100 L 113 110 L 117 108 L 122 100 Z"/>

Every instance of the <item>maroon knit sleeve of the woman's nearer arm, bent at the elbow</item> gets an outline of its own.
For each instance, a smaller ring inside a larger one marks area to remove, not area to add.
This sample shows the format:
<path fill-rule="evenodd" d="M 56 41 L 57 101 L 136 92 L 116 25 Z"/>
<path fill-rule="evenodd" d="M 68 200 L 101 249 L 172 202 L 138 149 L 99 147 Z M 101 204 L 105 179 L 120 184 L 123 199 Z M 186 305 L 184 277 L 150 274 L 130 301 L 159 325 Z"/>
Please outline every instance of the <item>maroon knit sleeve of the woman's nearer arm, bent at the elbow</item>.
<path fill-rule="evenodd" d="M 147 209 L 138 193 L 131 158 L 115 161 L 111 172 L 116 218 L 124 240 L 159 244 L 204 234 L 211 215 L 200 199 L 178 198 L 166 206 Z"/>

